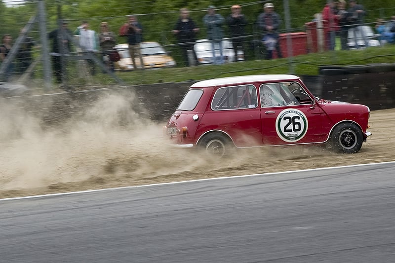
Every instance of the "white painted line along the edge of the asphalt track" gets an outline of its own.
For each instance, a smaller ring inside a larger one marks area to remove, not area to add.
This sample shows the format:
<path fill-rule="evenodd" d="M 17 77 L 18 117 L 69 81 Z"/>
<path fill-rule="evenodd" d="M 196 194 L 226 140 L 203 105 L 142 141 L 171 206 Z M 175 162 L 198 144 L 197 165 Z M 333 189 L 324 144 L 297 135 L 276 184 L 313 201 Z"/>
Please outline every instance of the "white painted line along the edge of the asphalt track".
<path fill-rule="evenodd" d="M 151 186 L 173 185 L 173 184 L 202 182 L 202 181 L 209 181 L 209 180 L 222 180 L 222 179 L 241 178 L 241 177 L 250 177 L 250 176 L 276 175 L 276 174 L 285 174 L 285 173 L 297 173 L 297 172 L 306 172 L 306 171 L 330 170 L 330 169 L 349 168 L 349 167 L 358 167 L 358 166 L 372 166 L 372 165 L 388 164 L 388 163 L 395 163 L 395 161 L 367 163 L 367 164 L 354 164 L 354 165 L 335 166 L 335 167 L 323 167 L 323 168 L 314 168 L 314 169 L 305 169 L 305 170 L 293 170 L 293 171 L 286 171 L 286 172 L 275 172 L 275 173 L 264 173 L 264 174 L 250 174 L 250 175 L 236 175 L 236 176 L 226 176 L 226 177 L 217 177 L 217 178 L 205 178 L 205 179 L 178 181 L 178 182 L 170 182 L 170 183 L 158 183 L 158 184 L 141 185 L 141 186 L 104 188 L 104 189 L 93 189 L 93 190 L 84 190 L 84 191 L 75 191 L 75 192 L 62 192 L 62 193 L 49 193 L 49 194 L 41 194 L 41 195 L 31 195 L 31 196 L 3 198 L 3 199 L 0 199 L 0 201 L 30 199 L 30 198 L 37 198 L 37 197 L 58 196 L 58 195 L 67 195 L 67 194 L 75 194 L 75 193 L 99 192 L 99 191 L 128 189 L 128 188 L 141 188 L 141 187 L 151 187 Z"/>

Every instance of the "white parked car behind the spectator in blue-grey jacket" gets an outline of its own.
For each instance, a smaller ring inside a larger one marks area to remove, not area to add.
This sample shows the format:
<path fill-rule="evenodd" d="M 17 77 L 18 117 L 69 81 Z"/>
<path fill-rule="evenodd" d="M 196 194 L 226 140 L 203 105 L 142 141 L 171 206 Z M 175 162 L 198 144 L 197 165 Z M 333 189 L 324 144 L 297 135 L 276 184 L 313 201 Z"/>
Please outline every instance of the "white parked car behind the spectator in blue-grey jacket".
<path fill-rule="evenodd" d="M 197 56 L 197 62 L 199 64 L 210 64 L 213 63 L 213 55 L 211 50 L 211 42 L 208 39 L 199 39 L 195 42 L 195 53 Z M 232 41 L 229 38 L 222 39 L 222 54 L 224 56 L 225 63 L 244 60 L 244 52 L 237 50 L 237 58 L 235 58 L 235 51 L 233 49 Z M 215 47 L 215 56 L 220 57 L 219 46 Z"/>

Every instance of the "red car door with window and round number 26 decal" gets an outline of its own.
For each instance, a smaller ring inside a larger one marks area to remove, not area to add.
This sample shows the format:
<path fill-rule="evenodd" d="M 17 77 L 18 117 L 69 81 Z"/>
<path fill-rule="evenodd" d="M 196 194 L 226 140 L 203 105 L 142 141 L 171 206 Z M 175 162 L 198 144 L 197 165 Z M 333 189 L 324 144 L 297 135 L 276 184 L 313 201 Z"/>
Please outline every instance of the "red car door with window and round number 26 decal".
<path fill-rule="evenodd" d="M 264 84 L 259 93 L 264 145 L 326 140 L 330 126 L 326 113 L 298 82 Z"/>

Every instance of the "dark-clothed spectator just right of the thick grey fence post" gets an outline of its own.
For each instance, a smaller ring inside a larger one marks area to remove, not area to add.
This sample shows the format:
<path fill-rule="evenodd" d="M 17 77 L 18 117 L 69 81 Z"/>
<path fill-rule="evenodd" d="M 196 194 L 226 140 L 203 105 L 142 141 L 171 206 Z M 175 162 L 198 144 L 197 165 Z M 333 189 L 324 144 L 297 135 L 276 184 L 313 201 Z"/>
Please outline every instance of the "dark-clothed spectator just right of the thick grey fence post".
<path fill-rule="evenodd" d="M 68 29 L 67 21 L 61 22 L 61 27 L 51 31 L 48 38 L 52 39 L 52 66 L 58 83 L 62 82 L 62 77 L 66 75 L 66 61 L 63 56 L 70 52 L 73 42 L 73 33 Z"/>

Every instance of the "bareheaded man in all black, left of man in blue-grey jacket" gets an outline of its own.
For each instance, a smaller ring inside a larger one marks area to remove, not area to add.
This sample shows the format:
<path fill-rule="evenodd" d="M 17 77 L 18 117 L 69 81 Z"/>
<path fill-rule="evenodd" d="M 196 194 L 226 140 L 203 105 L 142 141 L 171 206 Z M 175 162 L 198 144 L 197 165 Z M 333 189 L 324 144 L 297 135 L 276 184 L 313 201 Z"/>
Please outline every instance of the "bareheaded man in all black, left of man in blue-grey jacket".
<path fill-rule="evenodd" d="M 180 9 L 180 18 L 174 27 L 173 32 L 178 39 L 178 43 L 182 49 L 184 56 L 184 66 L 191 66 L 188 58 L 188 50 L 194 54 L 194 59 L 197 61 L 196 54 L 194 51 L 194 44 L 196 41 L 196 34 L 200 29 L 196 26 L 192 18 L 189 17 L 189 10 L 187 8 Z"/>

